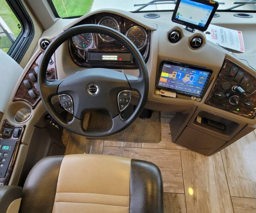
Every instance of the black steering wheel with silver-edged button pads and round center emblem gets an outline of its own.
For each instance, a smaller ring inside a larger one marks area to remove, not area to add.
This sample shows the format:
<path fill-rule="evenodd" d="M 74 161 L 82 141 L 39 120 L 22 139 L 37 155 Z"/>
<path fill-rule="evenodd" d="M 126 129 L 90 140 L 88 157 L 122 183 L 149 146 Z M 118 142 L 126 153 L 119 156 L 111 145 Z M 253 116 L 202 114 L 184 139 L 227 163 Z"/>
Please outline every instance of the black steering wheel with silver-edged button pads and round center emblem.
<path fill-rule="evenodd" d="M 82 33 L 96 33 L 112 37 L 122 43 L 132 54 L 139 68 L 139 76 L 126 75 L 113 69 L 92 68 L 76 72 L 62 80 L 47 81 L 46 72 L 55 50 L 66 40 Z M 49 115 L 63 128 L 88 138 L 102 138 L 121 132 L 140 115 L 148 98 L 148 70 L 142 55 L 125 35 L 106 26 L 75 26 L 58 35 L 47 47 L 41 59 L 38 75 L 39 92 Z M 128 106 L 131 91 L 140 95 L 131 116 L 124 120 L 120 112 Z M 71 121 L 62 118 L 52 105 L 51 98 L 59 96 L 61 105 L 73 114 Z M 87 131 L 83 128 L 84 114 L 92 109 L 105 109 L 112 119 L 107 131 Z"/>

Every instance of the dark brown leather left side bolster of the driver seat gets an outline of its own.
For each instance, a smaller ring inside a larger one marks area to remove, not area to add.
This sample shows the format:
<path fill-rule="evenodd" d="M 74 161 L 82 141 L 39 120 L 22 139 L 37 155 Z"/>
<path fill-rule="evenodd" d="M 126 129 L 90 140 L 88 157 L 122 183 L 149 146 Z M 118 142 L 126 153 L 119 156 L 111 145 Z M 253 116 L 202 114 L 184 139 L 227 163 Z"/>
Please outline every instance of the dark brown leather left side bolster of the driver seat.
<path fill-rule="evenodd" d="M 23 187 L 20 213 L 52 213 L 63 157 L 50 156 L 35 164 Z"/>

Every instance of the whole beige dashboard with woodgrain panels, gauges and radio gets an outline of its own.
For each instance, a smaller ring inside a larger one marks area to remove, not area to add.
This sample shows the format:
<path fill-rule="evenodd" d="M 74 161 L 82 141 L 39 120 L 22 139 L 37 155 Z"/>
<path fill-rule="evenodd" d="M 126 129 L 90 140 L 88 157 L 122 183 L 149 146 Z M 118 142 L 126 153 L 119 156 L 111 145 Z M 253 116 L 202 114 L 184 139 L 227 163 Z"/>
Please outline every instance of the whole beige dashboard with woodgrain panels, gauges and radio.
<path fill-rule="evenodd" d="M 174 115 L 170 122 L 172 142 L 212 155 L 254 130 L 256 125 L 256 72 L 252 69 L 256 67 L 256 32 L 251 30 L 256 27 L 256 16 L 247 19 L 250 24 L 246 24 L 231 12 L 218 13 L 221 19 L 213 18 L 211 23 L 241 30 L 246 53 L 232 54 L 208 41 L 203 32 L 189 32 L 172 23 L 172 12 L 159 11 L 159 17 L 150 19 L 148 12 L 104 9 L 79 18 L 57 20 L 39 39 L 38 48 L 17 82 L 9 112 L 2 119 L 8 121 L 6 128 L 26 126 L 20 143 L 27 145 L 38 118 L 46 115 L 37 82 L 44 53 L 41 42 L 51 42 L 73 26 L 102 24 L 119 30 L 139 49 L 148 69 L 145 108 Z M 234 25 L 238 21 L 243 24 Z M 64 79 L 76 72 L 90 72 L 94 67 L 138 76 L 139 70 L 129 54 L 122 44 L 105 35 L 77 35 L 55 51 L 47 79 Z M 137 100 L 138 94 L 133 92 L 130 103 L 136 105 Z M 21 108 L 29 109 L 32 116 L 17 123 L 14 118 Z"/>

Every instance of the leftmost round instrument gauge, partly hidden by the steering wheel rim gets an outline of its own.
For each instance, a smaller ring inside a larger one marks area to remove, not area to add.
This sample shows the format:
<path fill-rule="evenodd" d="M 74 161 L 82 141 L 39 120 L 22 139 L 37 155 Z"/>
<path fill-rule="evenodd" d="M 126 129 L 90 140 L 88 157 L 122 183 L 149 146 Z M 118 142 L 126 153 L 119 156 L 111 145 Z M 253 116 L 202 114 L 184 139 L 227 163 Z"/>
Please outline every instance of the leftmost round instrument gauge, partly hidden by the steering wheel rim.
<path fill-rule="evenodd" d="M 89 49 L 93 46 L 93 34 L 83 33 L 72 38 L 75 46 L 79 49 Z"/>

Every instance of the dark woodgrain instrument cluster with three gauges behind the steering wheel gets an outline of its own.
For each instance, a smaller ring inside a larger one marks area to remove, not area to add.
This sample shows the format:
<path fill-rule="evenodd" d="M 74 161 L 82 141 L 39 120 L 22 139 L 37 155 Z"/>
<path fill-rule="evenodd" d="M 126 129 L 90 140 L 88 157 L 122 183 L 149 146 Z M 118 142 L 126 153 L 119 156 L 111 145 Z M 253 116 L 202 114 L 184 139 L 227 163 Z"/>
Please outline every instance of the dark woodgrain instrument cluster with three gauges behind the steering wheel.
<path fill-rule="evenodd" d="M 92 15 L 76 25 L 99 24 L 108 26 L 128 37 L 139 49 L 145 62 L 150 52 L 150 30 L 119 15 L 101 13 Z M 112 37 L 95 33 L 83 33 L 69 40 L 70 55 L 82 67 L 136 68 L 131 53 Z"/>

